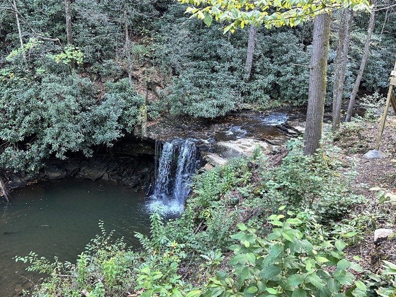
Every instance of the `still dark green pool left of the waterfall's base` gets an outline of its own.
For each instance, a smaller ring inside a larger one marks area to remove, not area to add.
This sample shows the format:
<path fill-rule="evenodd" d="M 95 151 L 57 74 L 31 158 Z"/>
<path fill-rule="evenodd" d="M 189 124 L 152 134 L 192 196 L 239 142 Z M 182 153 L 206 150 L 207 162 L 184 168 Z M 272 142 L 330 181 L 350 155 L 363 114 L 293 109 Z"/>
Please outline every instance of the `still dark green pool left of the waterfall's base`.
<path fill-rule="evenodd" d="M 149 230 L 147 209 L 144 194 L 106 181 L 58 180 L 18 189 L 11 204 L 1 205 L 0 296 L 13 297 L 20 286 L 29 287 L 21 276 L 32 274 L 24 270 L 27 264 L 15 263 L 15 255 L 32 250 L 49 259 L 56 255 L 74 262 L 100 233 L 99 220 L 107 231 L 115 230 L 116 237 L 124 236 L 137 247 L 134 232 Z"/>

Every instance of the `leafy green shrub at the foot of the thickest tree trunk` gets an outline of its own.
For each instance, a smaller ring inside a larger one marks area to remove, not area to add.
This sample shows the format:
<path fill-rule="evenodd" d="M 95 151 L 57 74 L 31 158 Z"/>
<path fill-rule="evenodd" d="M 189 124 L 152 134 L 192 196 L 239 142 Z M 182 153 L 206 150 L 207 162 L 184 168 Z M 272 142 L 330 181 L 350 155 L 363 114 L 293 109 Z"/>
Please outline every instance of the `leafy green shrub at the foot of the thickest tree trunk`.
<path fill-rule="evenodd" d="M 291 150 L 280 166 L 262 172 L 261 195 L 270 205 L 307 207 L 327 221 L 363 202 L 351 191 L 353 172 L 342 168 L 337 148 L 328 147 L 314 155 L 304 155 L 300 141 L 289 142 L 288 148 Z"/>

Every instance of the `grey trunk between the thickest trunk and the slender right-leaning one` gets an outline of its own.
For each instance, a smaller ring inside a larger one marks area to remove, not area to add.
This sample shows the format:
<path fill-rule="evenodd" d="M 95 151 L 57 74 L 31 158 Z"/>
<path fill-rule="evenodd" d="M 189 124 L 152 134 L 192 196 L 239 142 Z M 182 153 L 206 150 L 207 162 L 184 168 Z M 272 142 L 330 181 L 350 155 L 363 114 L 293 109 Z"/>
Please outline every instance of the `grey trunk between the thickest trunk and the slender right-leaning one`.
<path fill-rule="evenodd" d="M 340 22 L 339 41 L 334 69 L 333 87 L 333 132 L 340 127 L 341 105 L 345 83 L 345 71 L 347 68 L 350 31 L 352 29 L 353 10 L 346 9 Z"/>

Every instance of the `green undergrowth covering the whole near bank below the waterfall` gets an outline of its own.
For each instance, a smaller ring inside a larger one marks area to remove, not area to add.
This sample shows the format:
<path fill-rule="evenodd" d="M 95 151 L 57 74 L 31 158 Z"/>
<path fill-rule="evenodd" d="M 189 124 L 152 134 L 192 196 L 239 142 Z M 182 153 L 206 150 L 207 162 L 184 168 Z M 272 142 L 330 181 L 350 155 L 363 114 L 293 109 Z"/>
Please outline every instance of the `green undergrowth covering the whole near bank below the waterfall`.
<path fill-rule="evenodd" d="M 384 287 L 385 276 L 356 280 L 352 272 L 363 270 L 345 259 L 343 249 L 365 229 L 345 218 L 363 201 L 351 190 L 353 171 L 341 166 L 336 148 L 305 156 L 301 147 L 289 143 L 279 166 L 256 150 L 195 176 L 182 216 L 165 223 L 151 214 L 150 234 L 136 234 L 138 250 L 112 241 L 100 223 L 102 234 L 76 264 L 35 253 L 16 257 L 49 274 L 33 296 L 341 297 L 394 290 Z"/>

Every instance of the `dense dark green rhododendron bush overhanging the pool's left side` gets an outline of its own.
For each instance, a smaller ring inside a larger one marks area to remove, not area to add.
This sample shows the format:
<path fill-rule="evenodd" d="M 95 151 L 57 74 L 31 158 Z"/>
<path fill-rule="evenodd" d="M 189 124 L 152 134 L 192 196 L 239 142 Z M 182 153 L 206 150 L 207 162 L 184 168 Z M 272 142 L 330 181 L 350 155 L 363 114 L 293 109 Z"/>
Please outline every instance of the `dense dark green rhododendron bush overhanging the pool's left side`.
<path fill-rule="evenodd" d="M 106 92 L 99 97 L 89 79 L 67 74 L 63 63 L 44 58 L 47 49 L 31 40 L 11 52 L 0 70 L 1 167 L 34 173 L 52 154 L 90 156 L 93 146 L 110 146 L 139 121 L 144 98 L 127 80 L 104 84 Z"/>

